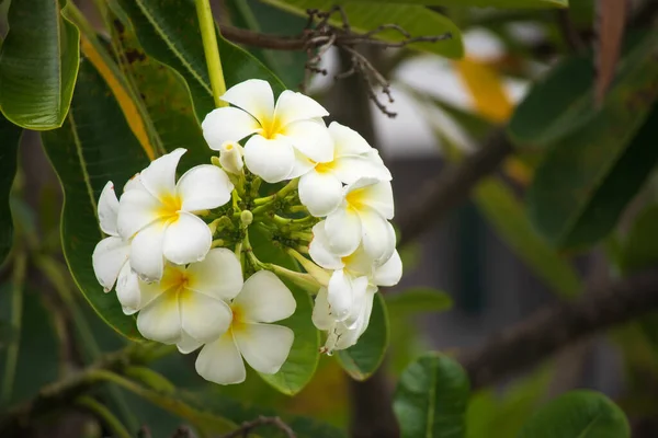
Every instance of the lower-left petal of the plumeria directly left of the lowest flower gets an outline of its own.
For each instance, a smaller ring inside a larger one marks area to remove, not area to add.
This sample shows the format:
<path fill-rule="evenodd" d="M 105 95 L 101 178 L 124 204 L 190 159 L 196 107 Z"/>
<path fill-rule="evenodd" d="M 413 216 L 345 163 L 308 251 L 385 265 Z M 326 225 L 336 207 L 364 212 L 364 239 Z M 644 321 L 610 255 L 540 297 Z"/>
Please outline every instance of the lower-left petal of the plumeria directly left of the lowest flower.
<path fill-rule="evenodd" d="M 137 328 L 147 339 L 163 344 L 181 341 L 181 312 L 178 293 L 168 291 L 141 309 L 137 315 Z"/>

